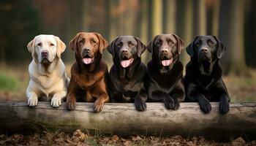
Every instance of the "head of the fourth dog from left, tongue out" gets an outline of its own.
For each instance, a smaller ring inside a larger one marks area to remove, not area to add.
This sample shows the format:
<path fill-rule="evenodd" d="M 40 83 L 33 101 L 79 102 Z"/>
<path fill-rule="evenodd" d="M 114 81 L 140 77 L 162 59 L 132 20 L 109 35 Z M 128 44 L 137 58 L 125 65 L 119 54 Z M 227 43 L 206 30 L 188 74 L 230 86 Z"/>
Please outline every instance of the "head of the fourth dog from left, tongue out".
<path fill-rule="evenodd" d="M 172 66 L 178 59 L 184 42 L 176 34 L 161 34 L 148 43 L 148 51 L 152 53 L 152 60 L 160 66 Z"/>

